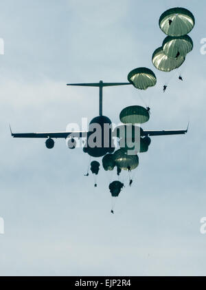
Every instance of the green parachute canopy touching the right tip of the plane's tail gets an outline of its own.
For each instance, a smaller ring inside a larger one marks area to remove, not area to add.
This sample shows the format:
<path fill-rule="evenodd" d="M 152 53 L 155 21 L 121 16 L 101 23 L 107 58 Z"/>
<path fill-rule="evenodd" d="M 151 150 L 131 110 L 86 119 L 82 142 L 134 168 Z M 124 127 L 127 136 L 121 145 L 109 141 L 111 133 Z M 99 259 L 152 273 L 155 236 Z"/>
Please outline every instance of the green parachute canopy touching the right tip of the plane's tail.
<path fill-rule="evenodd" d="M 130 83 L 139 90 L 146 90 L 148 87 L 153 87 L 157 83 L 157 78 L 148 68 L 135 68 L 127 77 Z"/>

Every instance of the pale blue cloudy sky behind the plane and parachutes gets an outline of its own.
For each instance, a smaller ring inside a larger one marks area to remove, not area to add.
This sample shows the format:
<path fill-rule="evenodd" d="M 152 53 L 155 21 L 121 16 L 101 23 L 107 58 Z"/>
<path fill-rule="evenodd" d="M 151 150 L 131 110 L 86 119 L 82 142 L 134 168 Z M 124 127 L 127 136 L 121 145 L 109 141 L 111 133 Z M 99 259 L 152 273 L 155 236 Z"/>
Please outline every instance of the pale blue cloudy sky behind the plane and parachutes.
<path fill-rule="evenodd" d="M 167 74 L 151 56 L 165 38 L 158 21 L 171 1 L 1 1 L 1 276 L 205 275 L 205 3 L 175 6 L 196 18 L 194 50 Z M 81 149 L 71 151 L 63 139 L 52 150 L 41 139 L 14 139 L 8 124 L 14 132 L 47 132 L 90 120 L 98 89 L 66 83 L 122 82 L 140 66 L 154 70 L 157 85 L 141 96 L 131 86 L 105 88 L 104 114 L 118 123 L 124 107 L 150 99 L 144 128 L 185 129 L 190 121 L 190 130 L 152 138 L 111 215 L 115 175 L 101 170 L 94 188 Z"/>

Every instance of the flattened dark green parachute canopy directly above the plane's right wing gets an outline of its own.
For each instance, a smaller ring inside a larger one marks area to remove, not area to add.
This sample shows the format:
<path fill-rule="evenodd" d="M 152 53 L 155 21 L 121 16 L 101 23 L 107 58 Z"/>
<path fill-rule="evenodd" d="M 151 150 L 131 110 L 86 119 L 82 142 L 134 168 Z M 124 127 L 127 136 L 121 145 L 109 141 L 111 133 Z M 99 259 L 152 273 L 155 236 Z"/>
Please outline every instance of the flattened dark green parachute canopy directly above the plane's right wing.
<path fill-rule="evenodd" d="M 133 105 L 125 107 L 119 114 L 119 118 L 120 121 L 125 124 L 146 123 L 150 118 L 150 114 L 146 108 L 139 105 Z"/>

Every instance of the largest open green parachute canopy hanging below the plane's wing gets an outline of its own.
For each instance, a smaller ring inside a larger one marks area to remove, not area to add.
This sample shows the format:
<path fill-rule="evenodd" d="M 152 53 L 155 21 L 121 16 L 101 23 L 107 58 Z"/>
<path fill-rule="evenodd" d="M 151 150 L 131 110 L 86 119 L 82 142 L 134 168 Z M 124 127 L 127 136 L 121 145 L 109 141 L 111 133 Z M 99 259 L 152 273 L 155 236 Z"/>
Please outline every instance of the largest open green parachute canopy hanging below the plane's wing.
<path fill-rule="evenodd" d="M 120 169 L 133 170 L 139 165 L 139 158 L 137 155 L 126 154 L 125 149 L 118 149 L 113 154 L 115 165 Z"/>

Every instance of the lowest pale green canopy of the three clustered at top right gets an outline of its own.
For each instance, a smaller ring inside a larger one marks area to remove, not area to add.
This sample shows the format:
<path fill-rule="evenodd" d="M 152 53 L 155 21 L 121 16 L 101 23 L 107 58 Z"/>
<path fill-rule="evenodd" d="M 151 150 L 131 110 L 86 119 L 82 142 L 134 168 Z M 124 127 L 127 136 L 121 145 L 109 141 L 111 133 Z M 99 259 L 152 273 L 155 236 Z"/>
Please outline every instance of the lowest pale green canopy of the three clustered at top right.
<path fill-rule="evenodd" d="M 152 54 L 153 65 L 155 65 L 157 70 L 161 70 L 163 72 L 170 72 L 171 70 L 179 68 L 184 61 L 185 58 L 182 56 L 179 56 L 177 59 L 170 59 L 170 57 L 166 56 L 166 54 L 163 52 L 162 47 L 157 48 L 157 50 L 155 50 L 155 52 Z"/>

